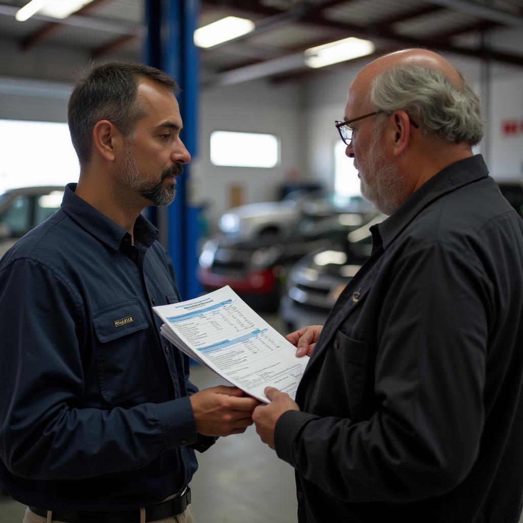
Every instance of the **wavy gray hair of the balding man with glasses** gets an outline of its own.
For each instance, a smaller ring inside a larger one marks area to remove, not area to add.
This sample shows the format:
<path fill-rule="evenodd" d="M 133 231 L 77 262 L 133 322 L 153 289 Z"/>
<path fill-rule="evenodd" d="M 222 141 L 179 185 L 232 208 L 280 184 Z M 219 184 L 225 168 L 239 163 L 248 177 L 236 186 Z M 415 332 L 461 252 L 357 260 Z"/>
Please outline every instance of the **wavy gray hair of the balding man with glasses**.
<path fill-rule="evenodd" d="M 437 69 L 420 64 L 395 64 L 374 78 L 370 101 L 374 110 L 389 115 L 403 109 L 424 135 L 447 142 L 476 145 L 483 138 L 485 122 L 479 97 L 469 79 L 458 72 L 461 86 L 454 85 Z"/>

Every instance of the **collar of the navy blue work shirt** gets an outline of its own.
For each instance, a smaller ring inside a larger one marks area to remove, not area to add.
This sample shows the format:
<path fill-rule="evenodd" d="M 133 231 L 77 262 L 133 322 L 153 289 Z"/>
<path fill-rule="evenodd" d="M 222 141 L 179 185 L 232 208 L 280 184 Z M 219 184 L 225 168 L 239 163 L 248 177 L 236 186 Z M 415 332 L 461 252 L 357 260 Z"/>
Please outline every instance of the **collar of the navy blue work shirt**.
<path fill-rule="evenodd" d="M 105 214 L 90 206 L 85 200 L 74 194 L 77 184 L 65 186 L 61 208 L 84 229 L 96 236 L 101 242 L 118 251 L 123 238 L 129 233 Z M 158 237 L 158 230 L 142 214 L 134 224 L 135 239 L 147 246 Z"/>

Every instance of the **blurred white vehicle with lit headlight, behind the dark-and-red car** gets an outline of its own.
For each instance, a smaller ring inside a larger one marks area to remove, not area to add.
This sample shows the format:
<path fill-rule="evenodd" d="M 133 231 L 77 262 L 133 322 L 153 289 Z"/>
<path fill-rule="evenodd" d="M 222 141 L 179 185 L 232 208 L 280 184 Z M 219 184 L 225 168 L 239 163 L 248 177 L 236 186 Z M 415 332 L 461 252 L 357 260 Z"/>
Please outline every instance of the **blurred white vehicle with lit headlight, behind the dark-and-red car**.
<path fill-rule="evenodd" d="M 281 201 L 248 203 L 225 211 L 219 233 L 232 241 L 263 238 L 283 240 L 306 217 L 323 218 L 333 213 L 367 212 L 370 204 L 361 197 L 340 197 L 324 191 L 293 191 Z"/>

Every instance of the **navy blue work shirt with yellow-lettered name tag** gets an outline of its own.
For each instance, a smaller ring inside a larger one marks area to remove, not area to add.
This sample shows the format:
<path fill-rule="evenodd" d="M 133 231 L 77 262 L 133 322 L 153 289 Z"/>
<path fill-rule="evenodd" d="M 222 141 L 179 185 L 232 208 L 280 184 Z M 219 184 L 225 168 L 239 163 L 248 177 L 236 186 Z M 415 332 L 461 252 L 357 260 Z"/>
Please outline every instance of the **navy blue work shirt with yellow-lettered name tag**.
<path fill-rule="evenodd" d="M 142 215 L 131 235 L 74 194 L 0 262 L 0 481 L 52 510 L 151 505 L 188 484 L 188 358 L 154 305 L 180 300 Z M 192 448 L 190 448 L 192 447 Z"/>

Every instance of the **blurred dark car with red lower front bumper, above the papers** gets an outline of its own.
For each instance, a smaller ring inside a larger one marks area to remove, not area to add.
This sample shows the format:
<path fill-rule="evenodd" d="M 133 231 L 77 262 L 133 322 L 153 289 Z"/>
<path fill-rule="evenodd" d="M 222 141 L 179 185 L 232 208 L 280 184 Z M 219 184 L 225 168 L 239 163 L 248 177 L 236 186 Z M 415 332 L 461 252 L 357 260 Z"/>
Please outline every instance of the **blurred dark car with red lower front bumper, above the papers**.
<path fill-rule="evenodd" d="M 341 242 L 376 215 L 375 210 L 367 211 L 308 217 L 279 240 L 272 236 L 255 241 L 211 238 L 199 258 L 200 283 L 206 291 L 229 285 L 253 308 L 275 311 L 292 265 L 311 251 Z"/>

